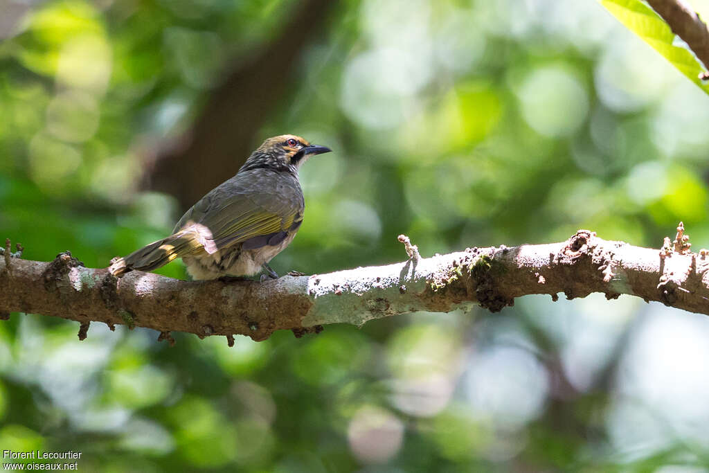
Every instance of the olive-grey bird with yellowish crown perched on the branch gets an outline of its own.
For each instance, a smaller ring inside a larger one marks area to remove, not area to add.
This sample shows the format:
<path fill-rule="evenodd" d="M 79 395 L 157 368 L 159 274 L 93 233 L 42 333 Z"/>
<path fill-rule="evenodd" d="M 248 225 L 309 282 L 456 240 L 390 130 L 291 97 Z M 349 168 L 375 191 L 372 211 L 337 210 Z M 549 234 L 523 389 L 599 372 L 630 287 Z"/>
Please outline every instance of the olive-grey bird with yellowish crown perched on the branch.
<path fill-rule="evenodd" d="M 233 177 L 184 213 L 172 235 L 113 258 L 109 272 L 121 277 L 133 269 L 152 271 L 180 257 L 192 279 L 240 278 L 262 271 L 277 279 L 268 263 L 303 223 L 298 169 L 310 157 L 330 151 L 296 135 L 268 138 Z"/>

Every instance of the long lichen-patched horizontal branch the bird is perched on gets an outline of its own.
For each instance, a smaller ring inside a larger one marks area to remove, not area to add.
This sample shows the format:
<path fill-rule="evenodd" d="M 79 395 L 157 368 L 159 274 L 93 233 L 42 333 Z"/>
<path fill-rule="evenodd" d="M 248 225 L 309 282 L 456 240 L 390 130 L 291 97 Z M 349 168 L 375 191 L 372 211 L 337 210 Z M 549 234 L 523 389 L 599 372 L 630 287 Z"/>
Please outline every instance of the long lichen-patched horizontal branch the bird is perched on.
<path fill-rule="evenodd" d="M 0 315 L 21 311 L 78 321 L 199 335 L 265 340 L 279 329 L 296 336 L 321 324 L 362 325 L 413 311 L 447 312 L 477 303 L 490 311 L 527 294 L 567 299 L 601 292 L 660 301 L 709 314 L 709 258 L 689 252 L 680 224 L 676 245 L 661 250 L 607 241 L 588 230 L 547 245 L 468 248 L 463 252 L 266 282 L 187 282 L 145 272 L 116 279 L 62 253 L 52 262 L 0 259 Z"/>

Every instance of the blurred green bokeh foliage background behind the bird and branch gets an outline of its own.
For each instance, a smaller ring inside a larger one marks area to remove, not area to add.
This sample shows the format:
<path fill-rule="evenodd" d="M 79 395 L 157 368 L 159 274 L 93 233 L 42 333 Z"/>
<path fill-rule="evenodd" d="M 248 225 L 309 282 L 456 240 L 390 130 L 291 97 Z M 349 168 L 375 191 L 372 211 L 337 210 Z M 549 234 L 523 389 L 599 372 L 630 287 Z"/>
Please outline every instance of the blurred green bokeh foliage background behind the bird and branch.
<path fill-rule="evenodd" d="M 399 233 L 423 255 L 577 228 L 659 247 L 682 220 L 709 247 L 707 123 L 593 0 L 0 0 L 0 237 L 31 260 L 105 267 L 280 133 L 335 150 L 301 172 L 281 274 L 401 261 Z M 77 328 L 0 323 L 0 449 L 84 472 L 709 469 L 709 319 L 627 296 L 233 348 Z"/>

